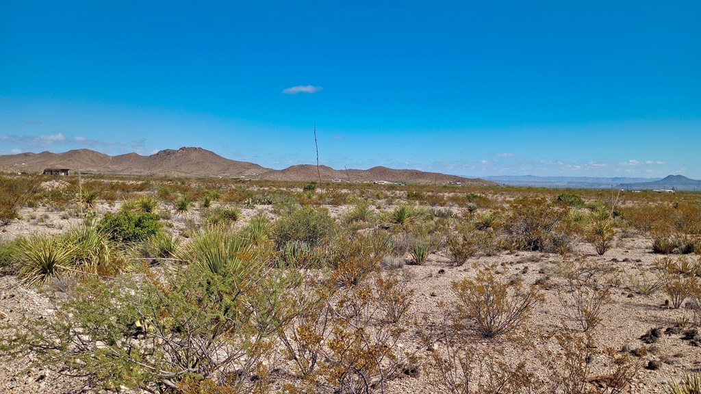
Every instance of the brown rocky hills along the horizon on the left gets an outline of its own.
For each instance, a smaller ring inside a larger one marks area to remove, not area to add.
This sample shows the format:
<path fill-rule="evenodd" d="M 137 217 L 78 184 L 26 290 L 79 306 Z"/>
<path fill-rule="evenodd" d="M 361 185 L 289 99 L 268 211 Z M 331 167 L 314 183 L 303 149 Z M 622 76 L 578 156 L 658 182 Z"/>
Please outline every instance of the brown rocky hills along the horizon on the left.
<path fill-rule="evenodd" d="M 418 170 L 395 170 L 373 167 L 369 170 L 334 170 L 322 165 L 293 165 L 284 170 L 264 168 L 255 163 L 224 158 L 207 149 L 182 147 L 165 149 L 150 156 L 123 154 L 109 156 L 90 149 L 75 149 L 60 154 L 43 151 L 39 154 L 24 153 L 0 156 L 0 170 L 4 172 L 41 172 L 46 168 L 65 168 L 71 171 L 96 172 L 119 175 L 166 175 L 184 177 L 222 177 L 240 179 L 276 179 L 290 181 L 351 182 L 410 182 L 417 184 L 461 184 L 489 185 L 494 182 L 478 178 L 459 177 L 438 172 Z"/>

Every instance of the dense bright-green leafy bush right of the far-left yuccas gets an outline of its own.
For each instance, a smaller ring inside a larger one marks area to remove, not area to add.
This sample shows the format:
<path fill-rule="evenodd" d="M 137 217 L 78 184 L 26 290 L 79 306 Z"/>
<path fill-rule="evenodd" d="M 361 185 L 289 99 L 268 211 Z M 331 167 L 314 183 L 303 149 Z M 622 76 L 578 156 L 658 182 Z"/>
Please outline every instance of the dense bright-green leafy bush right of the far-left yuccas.
<path fill-rule="evenodd" d="M 97 222 L 97 229 L 107 233 L 110 240 L 132 243 L 146 240 L 161 229 L 158 215 L 153 213 L 132 213 L 120 211 L 107 214 Z"/>

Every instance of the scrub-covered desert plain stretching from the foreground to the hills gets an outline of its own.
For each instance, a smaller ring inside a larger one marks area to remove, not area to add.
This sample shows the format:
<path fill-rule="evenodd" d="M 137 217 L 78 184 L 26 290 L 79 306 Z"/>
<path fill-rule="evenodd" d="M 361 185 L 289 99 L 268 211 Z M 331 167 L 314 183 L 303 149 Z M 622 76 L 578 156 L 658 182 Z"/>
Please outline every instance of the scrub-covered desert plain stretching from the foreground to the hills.
<path fill-rule="evenodd" d="M 14 393 L 697 393 L 701 195 L 0 176 Z"/>

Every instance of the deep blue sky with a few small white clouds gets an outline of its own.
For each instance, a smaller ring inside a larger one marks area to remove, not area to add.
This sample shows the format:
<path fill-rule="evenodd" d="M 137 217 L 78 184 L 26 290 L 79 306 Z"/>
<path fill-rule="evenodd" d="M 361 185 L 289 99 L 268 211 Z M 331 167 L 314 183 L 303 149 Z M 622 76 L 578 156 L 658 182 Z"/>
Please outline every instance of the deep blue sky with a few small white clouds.
<path fill-rule="evenodd" d="M 698 1 L 2 8 L 0 154 L 701 179 Z"/>

